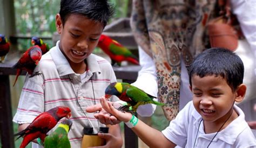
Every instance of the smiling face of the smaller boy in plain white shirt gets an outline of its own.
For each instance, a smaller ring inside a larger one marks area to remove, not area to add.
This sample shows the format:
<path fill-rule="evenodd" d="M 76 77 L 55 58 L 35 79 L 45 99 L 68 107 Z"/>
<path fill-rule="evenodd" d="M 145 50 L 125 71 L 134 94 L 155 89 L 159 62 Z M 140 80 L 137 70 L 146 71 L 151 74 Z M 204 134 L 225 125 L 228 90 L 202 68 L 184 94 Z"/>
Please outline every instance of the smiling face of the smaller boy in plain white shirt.
<path fill-rule="evenodd" d="M 224 123 L 232 114 L 234 101 L 240 101 L 237 90 L 233 92 L 221 76 L 193 75 L 191 82 L 193 104 L 204 121 L 215 124 Z"/>

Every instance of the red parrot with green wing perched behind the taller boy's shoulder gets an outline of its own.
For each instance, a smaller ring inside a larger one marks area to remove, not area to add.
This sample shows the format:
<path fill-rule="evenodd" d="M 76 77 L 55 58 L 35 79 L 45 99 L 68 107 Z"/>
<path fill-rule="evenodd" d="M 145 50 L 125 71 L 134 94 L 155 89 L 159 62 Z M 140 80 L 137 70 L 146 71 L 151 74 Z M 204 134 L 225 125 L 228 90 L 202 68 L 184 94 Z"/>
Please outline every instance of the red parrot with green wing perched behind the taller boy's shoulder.
<path fill-rule="evenodd" d="M 121 66 L 122 61 L 129 61 L 132 64 L 139 65 L 138 58 L 126 47 L 104 34 L 102 34 L 99 38 L 98 47 L 109 55 L 112 65 L 117 63 L 118 66 Z"/>

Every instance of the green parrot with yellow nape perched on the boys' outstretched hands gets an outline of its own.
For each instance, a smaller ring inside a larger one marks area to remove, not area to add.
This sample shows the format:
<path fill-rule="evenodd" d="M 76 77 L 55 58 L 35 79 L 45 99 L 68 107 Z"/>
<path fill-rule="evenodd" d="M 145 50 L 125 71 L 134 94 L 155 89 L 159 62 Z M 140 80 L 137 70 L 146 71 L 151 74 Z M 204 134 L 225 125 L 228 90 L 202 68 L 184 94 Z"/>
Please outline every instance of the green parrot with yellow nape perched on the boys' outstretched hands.
<path fill-rule="evenodd" d="M 115 95 L 120 98 L 120 100 L 127 102 L 127 105 L 119 108 L 119 110 L 129 111 L 130 107 L 132 108 L 132 112 L 136 112 L 139 105 L 143 104 L 156 104 L 156 105 L 164 105 L 164 103 L 160 103 L 154 101 L 154 96 L 151 96 L 145 93 L 143 90 L 131 86 L 129 83 L 121 83 L 121 82 L 113 82 L 110 83 L 109 86 L 105 89 L 105 97 L 109 98 L 111 95 Z"/>

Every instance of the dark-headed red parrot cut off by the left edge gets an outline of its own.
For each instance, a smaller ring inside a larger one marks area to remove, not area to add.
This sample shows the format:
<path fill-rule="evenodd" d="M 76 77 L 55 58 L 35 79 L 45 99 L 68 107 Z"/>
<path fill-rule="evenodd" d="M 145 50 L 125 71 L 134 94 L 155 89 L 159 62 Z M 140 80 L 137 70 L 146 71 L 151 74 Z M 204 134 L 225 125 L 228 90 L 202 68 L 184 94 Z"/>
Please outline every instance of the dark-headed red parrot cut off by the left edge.
<path fill-rule="evenodd" d="M 3 34 L 0 34 L 0 57 L 4 61 L 5 55 L 10 51 L 10 43 Z"/>

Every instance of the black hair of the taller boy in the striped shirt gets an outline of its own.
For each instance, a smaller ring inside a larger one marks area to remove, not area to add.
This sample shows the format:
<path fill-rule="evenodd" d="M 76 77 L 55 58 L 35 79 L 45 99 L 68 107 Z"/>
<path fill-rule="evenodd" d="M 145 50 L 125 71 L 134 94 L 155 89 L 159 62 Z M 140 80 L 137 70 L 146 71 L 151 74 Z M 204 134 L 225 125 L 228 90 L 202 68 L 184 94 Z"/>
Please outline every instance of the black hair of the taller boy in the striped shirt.
<path fill-rule="evenodd" d="M 113 6 L 107 0 L 61 0 L 59 15 L 64 25 L 71 14 L 79 14 L 98 21 L 105 27 L 113 15 Z"/>

